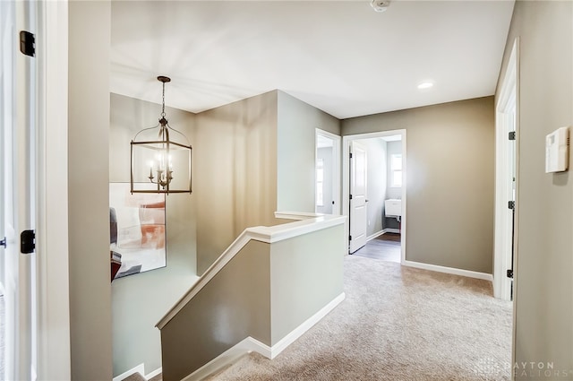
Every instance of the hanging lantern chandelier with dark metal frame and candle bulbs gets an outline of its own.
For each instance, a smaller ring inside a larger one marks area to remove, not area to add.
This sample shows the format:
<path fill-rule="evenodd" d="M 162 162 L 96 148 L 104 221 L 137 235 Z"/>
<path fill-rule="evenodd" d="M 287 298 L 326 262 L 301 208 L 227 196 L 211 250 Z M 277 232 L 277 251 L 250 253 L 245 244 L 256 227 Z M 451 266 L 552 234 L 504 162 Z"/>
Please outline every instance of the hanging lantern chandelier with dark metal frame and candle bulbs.
<path fill-rule="evenodd" d="M 167 123 L 165 116 L 165 83 L 163 108 L 157 126 L 144 128 L 131 142 L 132 193 L 189 193 L 192 192 L 192 146 L 184 134 Z"/>

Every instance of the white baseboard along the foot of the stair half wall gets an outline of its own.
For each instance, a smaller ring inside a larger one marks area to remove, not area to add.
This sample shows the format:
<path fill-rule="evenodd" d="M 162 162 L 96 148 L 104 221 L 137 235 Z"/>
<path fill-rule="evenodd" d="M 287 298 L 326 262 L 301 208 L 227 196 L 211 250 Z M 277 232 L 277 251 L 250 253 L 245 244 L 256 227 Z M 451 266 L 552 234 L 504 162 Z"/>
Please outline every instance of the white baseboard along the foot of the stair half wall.
<path fill-rule="evenodd" d="M 201 380 L 218 372 L 220 369 L 235 363 L 245 354 L 252 351 L 260 353 L 267 359 L 274 359 L 280 352 L 284 351 L 286 347 L 295 342 L 295 340 L 301 337 L 306 331 L 311 329 L 312 325 L 317 324 L 319 321 L 321 321 L 322 317 L 327 316 L 329 312 L 337 307 L 338 304 L 340 304 L 345 298 L 346 294 L 344 292 L 338 295 L 338 297 L 330 301 L 329 304 L 327 304 L 325 307 L 322 307 L 320 311 L 309 317 L 306 321 L 304 321 L 302 325 L 297 326 L 291 333 L 288 333 L 284 338 L 282 338 L 272 347 L 269 347 L 269 345 L 249 336 L 242 342 L 236 344 L 234 347 L 218 355 L 218 357 L 215 359 L 211 359 L 207 364 L 192 372 L 191 375 L 184 377 L 182 381 Z"/>

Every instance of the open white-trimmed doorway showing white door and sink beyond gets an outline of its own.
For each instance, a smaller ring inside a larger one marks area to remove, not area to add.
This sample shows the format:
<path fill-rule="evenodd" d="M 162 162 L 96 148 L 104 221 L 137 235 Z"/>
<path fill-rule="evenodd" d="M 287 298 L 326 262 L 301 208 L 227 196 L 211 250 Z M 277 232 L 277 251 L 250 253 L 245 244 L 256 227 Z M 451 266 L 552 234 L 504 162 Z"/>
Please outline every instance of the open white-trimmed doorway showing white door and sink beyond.
<path fill-rule="evenodd" d="M 343 138 L 348 252 L 406 259 L 406 130 Z"/>

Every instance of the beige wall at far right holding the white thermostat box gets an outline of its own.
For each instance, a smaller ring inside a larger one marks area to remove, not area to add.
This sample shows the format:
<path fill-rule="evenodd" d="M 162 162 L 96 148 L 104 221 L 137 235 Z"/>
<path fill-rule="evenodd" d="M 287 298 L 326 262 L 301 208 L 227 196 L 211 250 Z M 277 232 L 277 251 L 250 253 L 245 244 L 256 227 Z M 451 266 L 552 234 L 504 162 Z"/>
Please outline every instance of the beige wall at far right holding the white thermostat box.
<path fill-rule="evenodd" d="M 501 76 L 516 37 L 515 361 L 552 362 L 569 375 L 543 379 L 573 380 L 573 184 L 570 169 L 544 173 L 545 135 L 573 125 L 573 3 L 517 1 Z M 522 370 L 516 379 L 537 379 Z"/>

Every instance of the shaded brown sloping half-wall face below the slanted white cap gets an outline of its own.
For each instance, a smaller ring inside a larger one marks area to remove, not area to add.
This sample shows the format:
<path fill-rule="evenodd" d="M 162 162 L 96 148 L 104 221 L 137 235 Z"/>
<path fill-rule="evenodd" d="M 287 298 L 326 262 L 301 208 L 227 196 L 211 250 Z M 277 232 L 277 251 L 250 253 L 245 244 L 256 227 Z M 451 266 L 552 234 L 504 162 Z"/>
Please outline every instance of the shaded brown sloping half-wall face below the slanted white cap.
<path fill-rule="evenodd" d="M 270 246 L 250 241 L 161 330 L 163 379 L 180 380 L 248 336 L 270 342 Z"/>

